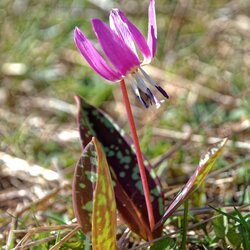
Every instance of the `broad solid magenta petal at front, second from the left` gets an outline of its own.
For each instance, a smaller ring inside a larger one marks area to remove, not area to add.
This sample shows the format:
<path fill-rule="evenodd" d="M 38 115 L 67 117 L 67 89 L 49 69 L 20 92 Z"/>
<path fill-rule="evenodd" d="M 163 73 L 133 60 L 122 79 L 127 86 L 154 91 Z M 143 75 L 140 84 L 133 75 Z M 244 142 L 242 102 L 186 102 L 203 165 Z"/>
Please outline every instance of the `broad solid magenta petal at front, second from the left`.
<path fill-rule="evenodd" d="M 139 58 L 109 26 L 99 19 L 93 19 L 92 26 L 104 53 L 119 72 L 125 76 L 139 67 Z"/>

